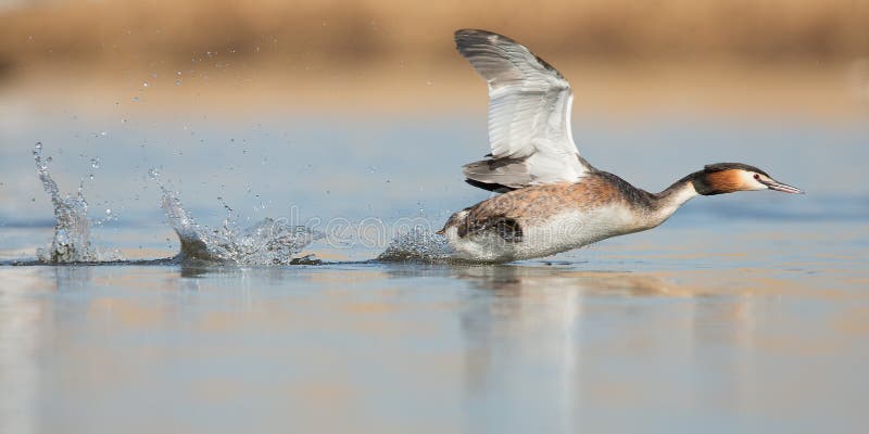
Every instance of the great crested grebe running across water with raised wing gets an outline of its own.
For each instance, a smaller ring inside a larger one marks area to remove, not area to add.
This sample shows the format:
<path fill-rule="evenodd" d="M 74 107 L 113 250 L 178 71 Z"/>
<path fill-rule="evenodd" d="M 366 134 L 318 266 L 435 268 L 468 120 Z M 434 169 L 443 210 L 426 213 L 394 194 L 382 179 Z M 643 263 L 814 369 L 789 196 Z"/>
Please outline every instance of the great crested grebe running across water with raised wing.
<path fill-rule="evenodd" d="M 492 153 L 464 166 L 466 182 L 504 192 L 453 214 L 438 232 L 456 258 L 505 263 L 554 255 L 652 229 L 698 194 L 802 193 L 741 163 L 708 165 L 660 193 L 638 189 L 579 155 L 570 131 L 574 94 L 549 63 L 491 31 L 458 30 L 455 43 L 489 85 Z"/>

